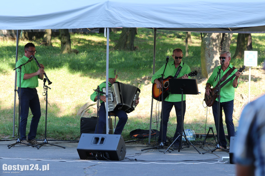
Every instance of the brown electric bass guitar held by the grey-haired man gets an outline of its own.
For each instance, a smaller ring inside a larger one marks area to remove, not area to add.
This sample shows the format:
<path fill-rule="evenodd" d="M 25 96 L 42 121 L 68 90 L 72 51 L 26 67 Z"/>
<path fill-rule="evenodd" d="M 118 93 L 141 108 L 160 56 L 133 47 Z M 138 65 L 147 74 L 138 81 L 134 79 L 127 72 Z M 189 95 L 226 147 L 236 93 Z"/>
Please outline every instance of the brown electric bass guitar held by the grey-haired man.
<path fill-rule="evenodd" d="M 243 70 L 245 70 L 246 66 L 243 66 L 240 68 L 238 71 L 242 73 Z M 229 81 L 231 81 L 234 77 L 236 76 L 236 73 L 233 74 L 230 78 L 228 78 L 226 81 L 224 81 L 221 85 L 220 88 L 222 88 L 224 85 L 226 85 Z M 208 107 L 211 107 L 214 104 L 215 99 L 218 97 L 218 86 L 219 83 L 214 87 L 210 88 L 211 92 L 209 95 L 204 95 L 204 101 Z"/>

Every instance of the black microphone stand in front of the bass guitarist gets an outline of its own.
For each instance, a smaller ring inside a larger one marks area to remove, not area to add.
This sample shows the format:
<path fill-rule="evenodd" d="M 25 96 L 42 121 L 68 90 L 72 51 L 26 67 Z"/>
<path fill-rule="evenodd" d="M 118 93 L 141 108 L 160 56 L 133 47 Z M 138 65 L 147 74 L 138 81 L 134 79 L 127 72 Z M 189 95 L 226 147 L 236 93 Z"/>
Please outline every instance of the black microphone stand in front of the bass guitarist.
<path fill-rule="evenodd" d="M 214 152 L 215 150 L 217 150 L 217 149 L 222 149 L 222 150 L 224 150 L 224 151 L 228 151 L 229 152 L 229 150 L 226 150 L 226 149 L 223 149 L 223 148 L 220 148 L 220 145 L 219 145 L 219 120 L 220 120 L 220 90 L 221 90 L 221 69 L 222 69 L 222 67 L 223 67 L 223 65 L 224 65 L 224 59 L 223 59 L 223 61 L 222 61 L 222 64 L 221 64 L 221 67 L 219 68 L 219 70 L 218 70 L 218 72 L 217 72 L 217 76 L 216 76 L 216 78 L 215 78 L 215 80 L 214 81 L 216 81 L 217 80 L 217 78 L 218 78 L 218 76 L 219 76 L 219 81 L 218 81 L 218 105 L 217 105 L 217 129 L 216 129 L 216 132 L 217 132 L 217 144 L 216 144 L 216 146 L 215 146 L 215 148 L 214 149 L 211 149 L 211 150 L 208 150 L 208 151 L 206 151 L 206 152 L 202 152 L 202 154 L 205 154 L 205 153 L 207 153 L 207 152 Z"/>

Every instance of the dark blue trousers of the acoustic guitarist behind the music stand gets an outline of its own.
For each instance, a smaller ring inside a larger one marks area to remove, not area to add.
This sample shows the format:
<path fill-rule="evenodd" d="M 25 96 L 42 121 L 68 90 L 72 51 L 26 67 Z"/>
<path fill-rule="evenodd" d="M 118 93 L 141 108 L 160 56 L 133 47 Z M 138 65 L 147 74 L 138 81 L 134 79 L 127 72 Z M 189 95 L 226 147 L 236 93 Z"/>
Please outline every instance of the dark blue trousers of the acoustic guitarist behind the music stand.
<path fill-rule="evenodd" d="M 169 121 L 170 111 L 175 107 L 176 111 L 176 118 L 177 118 L 177 127 L 176 132 L 174 134 L 173 140 L 175 140 L 180 132 L 183 130 L 183 122 L 184 122 L 184 115 L 186 112 L 186 101 L 183 101 L 183 121 L 182 121 L 182 129 L 181 129 L 181 101 L 178 102 L 169 102 L 163 101 L 163 121 L 162 121 L 162 114 L 161 114 L 161 121 L 160 121 L 160 133 L 158 136 L 158 142 L 166 142 L 166 134 L 167 134 L 167 122 Z M 163 136 L 162 136 L 162 126 L 163 126 Z M 174 144 L 178 145 L 180 139 L 182 140 L 182 136 L 178 137 L 178 139 L 174 142 Z"/>

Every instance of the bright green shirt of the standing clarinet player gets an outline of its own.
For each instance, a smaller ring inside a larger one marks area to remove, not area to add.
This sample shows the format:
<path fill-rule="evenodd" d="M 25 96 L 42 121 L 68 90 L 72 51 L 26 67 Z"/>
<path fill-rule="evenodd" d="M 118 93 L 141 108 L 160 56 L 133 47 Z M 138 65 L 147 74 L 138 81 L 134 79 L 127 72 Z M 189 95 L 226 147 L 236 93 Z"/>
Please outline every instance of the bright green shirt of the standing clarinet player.
<path fill-rule="evenodd" d="M 29 58 L 27 58 L 25 55 L 21 59 L 19 59 L 16 63 L 16 67 L 28 62 Z M 39 67 L 35 61 L 31 61 L 21 67 L 21 78 L 24 78 L 24 74 L 27 73 L 35 73 L 39 70 Z M 19 82 L 20 82 L 20 69 L 16 69 L 17 71 L 17 87 L 19 87 Z M 39 81 L 38 81 L 38 75 L 33 76 L 32 78 L 29 78 L 27 80 L 21 79 L 21 87 L 26 88 L 36 88 L 39 86 Z"/>

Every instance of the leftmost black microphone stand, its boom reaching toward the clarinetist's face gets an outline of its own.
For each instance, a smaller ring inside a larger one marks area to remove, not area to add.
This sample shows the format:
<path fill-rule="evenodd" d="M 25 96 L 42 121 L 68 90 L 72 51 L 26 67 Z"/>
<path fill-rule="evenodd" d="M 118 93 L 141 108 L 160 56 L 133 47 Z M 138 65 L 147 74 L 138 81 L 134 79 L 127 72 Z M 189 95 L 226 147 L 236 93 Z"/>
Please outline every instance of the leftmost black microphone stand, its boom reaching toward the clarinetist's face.
<path fill-rule="evenodd" d="M 24 64 L 21 64 L 20 66 L 18 66 L 17 68 L 14 68 L 13 70 L 16 70 L 16 69 L 19 69 L 19 93 L 21 94 L 21 67 L 29 62 L 32 61 L 32 57 L 29 58 L 28 62 L 24 63 Z M 28 143 L 24 143 L 24 142 L 21 142 L 20 141 L 20 108 L 21 108 L 21 103 L 20 103 L 20 100 L 21 100 L 21 95 L 19 95 L 19 105 L 18 105 L 18 133 L 17 133 L 17 140 L 15 143 L 13 144 L 10 144 L 10 145 L 7 145 L 8 149 L 10 149 L 11 147 L 14 147 L 16 144 L 24 144 L 24 145 L 28 145 L 28 146 L 32 146 L 32 147 L 37 147 L 35 145 L 31 145 L 31 144 L 28 144 Z"/>

